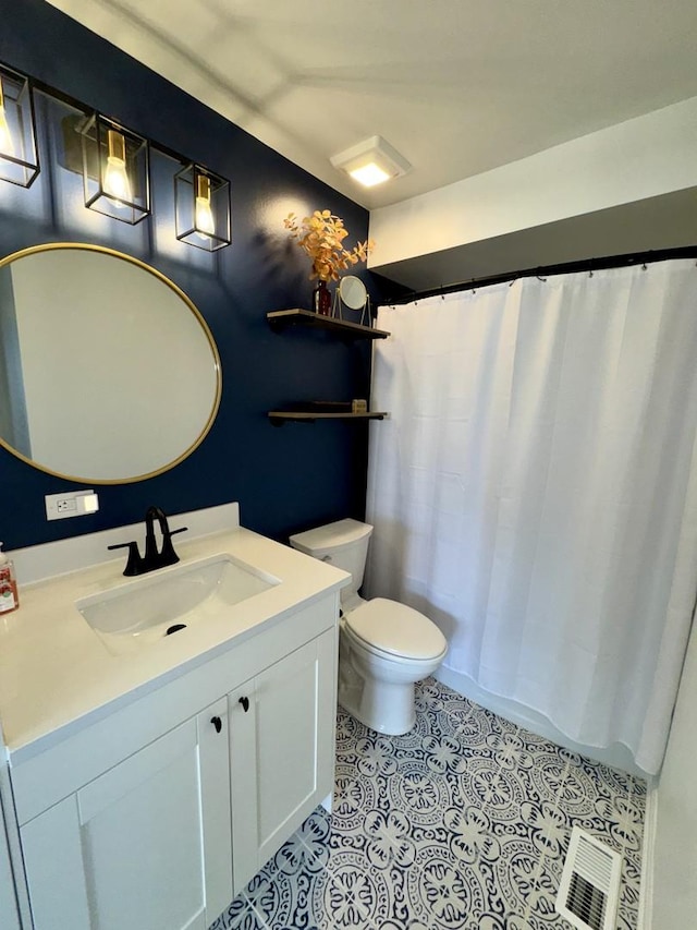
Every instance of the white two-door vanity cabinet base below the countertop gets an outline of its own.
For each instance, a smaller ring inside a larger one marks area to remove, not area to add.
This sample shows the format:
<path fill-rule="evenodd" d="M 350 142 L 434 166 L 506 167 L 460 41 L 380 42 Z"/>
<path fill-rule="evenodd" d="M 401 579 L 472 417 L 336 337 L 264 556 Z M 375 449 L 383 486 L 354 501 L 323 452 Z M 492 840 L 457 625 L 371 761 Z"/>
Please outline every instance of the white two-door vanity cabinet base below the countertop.
<path fill-rule="evenodd" d="M 35 930 L 206 930 L 333 787 L 338 595 L 17 765 Z"/>

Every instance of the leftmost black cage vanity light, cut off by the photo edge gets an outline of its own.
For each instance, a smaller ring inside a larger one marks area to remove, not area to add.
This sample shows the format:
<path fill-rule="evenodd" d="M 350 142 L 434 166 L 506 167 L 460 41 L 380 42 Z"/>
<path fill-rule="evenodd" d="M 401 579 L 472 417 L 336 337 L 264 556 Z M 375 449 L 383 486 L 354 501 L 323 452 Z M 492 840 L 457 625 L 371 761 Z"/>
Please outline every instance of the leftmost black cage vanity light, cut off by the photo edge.
<path fill-rule="evenodd" d="M 0 179 L 28 188 L 39 173 L 28 78 L 0 68 Z"/>

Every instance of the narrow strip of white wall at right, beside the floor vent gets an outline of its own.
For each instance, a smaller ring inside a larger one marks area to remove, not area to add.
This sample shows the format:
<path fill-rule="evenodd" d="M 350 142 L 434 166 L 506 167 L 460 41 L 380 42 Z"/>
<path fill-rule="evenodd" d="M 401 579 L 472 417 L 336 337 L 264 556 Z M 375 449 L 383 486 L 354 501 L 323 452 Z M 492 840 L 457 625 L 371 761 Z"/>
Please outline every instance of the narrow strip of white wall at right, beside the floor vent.
<path fill-rule="evenodd" d="M 652 930 L 697 923 L 697 627 L 687 647 L 665 761 L 658 783 Z"/>

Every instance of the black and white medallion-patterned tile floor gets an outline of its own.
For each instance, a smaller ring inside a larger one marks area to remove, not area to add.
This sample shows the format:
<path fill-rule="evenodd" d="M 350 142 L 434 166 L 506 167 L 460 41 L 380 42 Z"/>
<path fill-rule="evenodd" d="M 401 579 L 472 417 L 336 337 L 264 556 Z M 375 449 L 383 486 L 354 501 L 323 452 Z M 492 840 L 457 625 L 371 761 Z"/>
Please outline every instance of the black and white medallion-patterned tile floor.
<path fill-rule="evenodd" d="M 646 785 L 433 679 L 381 736 L 342 710 L 331 817 L 318 808 L 210 930 L 571 930 L 554 897 L 574 824 L 623 857 L 635 930 Z"/>

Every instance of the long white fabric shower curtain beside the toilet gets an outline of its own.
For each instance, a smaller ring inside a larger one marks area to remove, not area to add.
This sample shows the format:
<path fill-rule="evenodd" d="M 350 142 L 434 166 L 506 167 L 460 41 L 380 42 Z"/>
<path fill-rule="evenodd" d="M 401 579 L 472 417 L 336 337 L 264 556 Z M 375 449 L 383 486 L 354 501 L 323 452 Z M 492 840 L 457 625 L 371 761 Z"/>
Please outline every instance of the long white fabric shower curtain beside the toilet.
<path fill-rule="evenodd" d="M 660 768 L 697 589 L 693 261 L 381 307 L 371 596 L 445 665 Z"/>

